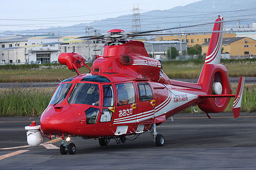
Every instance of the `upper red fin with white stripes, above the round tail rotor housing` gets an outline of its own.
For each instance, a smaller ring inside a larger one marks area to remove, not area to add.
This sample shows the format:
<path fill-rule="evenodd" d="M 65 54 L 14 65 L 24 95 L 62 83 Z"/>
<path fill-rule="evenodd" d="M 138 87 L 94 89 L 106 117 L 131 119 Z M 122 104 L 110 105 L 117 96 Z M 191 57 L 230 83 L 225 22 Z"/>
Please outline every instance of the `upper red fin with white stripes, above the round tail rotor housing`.
<path fill-rule="evenodd" d="M 212 31 L 223 31 L 223 17 L 218 16 L 216 19 L 214 29 Z M 205 58 L 205 64 L 220 64 L 221 60 L 221 47 L 222 47 L 222 32 L 212 33 L 210 38 L 210 43 L 208 47 L 208 52 Z"/>

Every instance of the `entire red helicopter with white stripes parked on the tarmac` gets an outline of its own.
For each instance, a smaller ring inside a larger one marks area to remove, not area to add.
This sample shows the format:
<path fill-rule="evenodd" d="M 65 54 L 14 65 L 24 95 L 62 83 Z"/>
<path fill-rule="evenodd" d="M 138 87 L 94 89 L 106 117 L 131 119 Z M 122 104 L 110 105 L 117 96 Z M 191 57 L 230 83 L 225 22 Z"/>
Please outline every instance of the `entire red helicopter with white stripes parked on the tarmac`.
<path fill-rule="evenodd" d="M 25 127 L 28 143 L 36 147 L 42 135 L 49 139 L 59 136 L 60 153 L 75 154 L 75 144 L 68 144 L 72 136 L 95 138 L 105 146 L 111 139 L 124 143 L 128 135 L 151 132 L 161 147 L 164 137 L 157 126 L 167 118 L 195 105 L 210 118 L 208 113 L 222 112 L 233 97 L 234 118 L 238 117 L 244 77 L 239 79 L 236 95 L 231 94 L 227 70 L 220 64 L 222 30 L 219 16 L 197 84 L 170 80 L 161 62 L 148 56 L 144 43 L 124 40 L 129 34 L 119 29 L 109 31 L 112 41 L 104 45 L 103 55 L 97 56 L 92 68 L 80 54 L 61 53 L 59 63 L 78 76 L 61 81 L 41 115 L 40 126 L 33 122 Z M 90 74 L 80 74 L 82 66 L 90 69 Z"/>

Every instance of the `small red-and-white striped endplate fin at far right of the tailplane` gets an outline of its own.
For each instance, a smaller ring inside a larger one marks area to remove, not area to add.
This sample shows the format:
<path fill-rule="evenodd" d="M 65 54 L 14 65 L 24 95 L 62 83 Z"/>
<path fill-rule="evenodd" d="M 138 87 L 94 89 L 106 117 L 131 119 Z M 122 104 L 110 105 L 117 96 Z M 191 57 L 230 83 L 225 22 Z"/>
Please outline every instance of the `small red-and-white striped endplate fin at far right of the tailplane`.
<path fill-rule="evenodd" d="M 245 78 L 240 76 L 236 97 L 234 98 L 234 104 L 233 104 L 234 118 L 240 115 L 240 109 L 241 109 L 241 103 L 242 103 L 242 97 L 243 97 L 243 91 L 244 91 L 244 80 Z"/>

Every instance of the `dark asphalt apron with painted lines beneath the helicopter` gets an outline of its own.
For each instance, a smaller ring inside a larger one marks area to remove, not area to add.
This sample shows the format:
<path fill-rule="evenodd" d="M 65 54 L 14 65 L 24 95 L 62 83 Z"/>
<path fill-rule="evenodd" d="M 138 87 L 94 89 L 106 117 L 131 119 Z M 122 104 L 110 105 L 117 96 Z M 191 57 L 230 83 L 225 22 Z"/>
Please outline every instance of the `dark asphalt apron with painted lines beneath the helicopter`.
<path fill-rule="evenodd" d="M 0 117 L 0 169 L 256 169 L 256 113 L 210 116 L 180 113 L 174 122 L 168 119 L 157 127 L 163 147 L 156 147 L 151 133 L 124 144 L 112 139 L 106 147 L 72 137 L 75 155 L 61 155 L 61 141 L 52 143 L 56 149 L 26 147 L 24 127 L 39 123 L 38 117 Z M 18 146 L 25 148 L 8 149 Z"/>

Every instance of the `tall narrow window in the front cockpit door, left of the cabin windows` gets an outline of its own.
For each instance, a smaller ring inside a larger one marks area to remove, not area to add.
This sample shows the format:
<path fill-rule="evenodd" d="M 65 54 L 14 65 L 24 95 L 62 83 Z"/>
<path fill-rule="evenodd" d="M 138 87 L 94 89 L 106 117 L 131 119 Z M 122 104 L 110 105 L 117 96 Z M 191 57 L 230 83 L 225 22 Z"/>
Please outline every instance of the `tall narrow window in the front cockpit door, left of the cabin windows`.
<path fill-rule="evenodd" d="M 114 106 L 114 95 L 112 85 L 103 86 L 103 107 Z"/>

